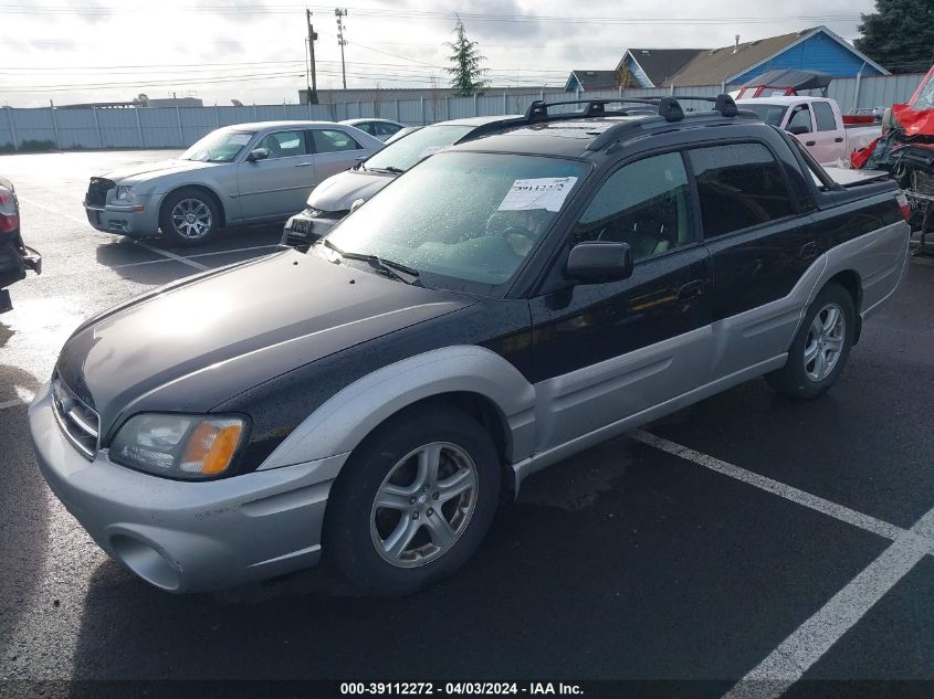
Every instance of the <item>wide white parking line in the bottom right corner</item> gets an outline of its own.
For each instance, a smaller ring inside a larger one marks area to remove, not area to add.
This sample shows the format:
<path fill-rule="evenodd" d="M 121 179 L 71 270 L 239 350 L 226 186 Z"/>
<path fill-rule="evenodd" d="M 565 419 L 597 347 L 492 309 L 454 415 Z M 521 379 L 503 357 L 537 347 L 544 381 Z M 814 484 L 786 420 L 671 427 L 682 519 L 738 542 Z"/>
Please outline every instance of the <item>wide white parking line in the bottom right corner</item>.
<path fill-rule="evenodd" d="M 848 585 L 753 668 L 723 699 L 775 699 L 817 663 L 886 592 L 932 552 L 934 510 L 895 539 Z"/>

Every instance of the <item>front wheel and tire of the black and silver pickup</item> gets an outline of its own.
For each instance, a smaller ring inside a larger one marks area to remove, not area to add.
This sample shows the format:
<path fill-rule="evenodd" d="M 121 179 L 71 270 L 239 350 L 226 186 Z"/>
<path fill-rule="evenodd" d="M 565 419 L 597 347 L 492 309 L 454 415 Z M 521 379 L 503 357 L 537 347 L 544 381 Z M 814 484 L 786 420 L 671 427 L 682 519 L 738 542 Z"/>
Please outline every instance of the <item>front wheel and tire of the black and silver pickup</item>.
<path fill-rule="evenodd" d="M 328 497 L 325 555 L 356 585 L 416 592 L 456 571 L 496 510 L 500 457 L 470 415 L 406 411 L 350 456 Z"/>

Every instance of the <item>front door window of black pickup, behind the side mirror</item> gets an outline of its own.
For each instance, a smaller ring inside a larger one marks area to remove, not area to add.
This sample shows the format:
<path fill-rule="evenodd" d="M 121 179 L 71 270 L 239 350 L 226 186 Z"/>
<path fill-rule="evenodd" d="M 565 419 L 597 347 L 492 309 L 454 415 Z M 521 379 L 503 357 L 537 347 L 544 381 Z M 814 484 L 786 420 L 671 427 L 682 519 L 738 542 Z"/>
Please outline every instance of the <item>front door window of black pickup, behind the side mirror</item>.
<path fill-rule="evenodd" d="M 573 242 L 628 243 L 633 260 L 693 242 L 691 197 L 676 152 L 638 160 L 617 170 L 587 206 Z"/>

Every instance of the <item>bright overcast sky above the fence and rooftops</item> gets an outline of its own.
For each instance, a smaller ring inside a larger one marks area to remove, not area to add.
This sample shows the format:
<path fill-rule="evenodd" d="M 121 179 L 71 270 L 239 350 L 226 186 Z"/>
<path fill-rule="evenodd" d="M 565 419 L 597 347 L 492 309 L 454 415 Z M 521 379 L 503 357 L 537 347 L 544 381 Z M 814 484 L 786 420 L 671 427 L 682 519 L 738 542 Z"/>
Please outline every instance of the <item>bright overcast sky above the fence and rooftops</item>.
<path fill-rule="evenodd" d="M 321 0 L 318 0 L 321 1 Z M 563 85 L 571 68 L 612 70 L 626 47 L 713 47 L 825 24 L 857 35 L 871 0 L 351 0 L 348 87 L 445 86 L 454 12 L 494 85 Z M 0 104 L 149 97 L 204 104 L 297 102 L 305 4 L 290 0 L 0 0 Z M 318 87 L 340 87 L 333 7 L 311 4 Z M 573 10 L 569 13 L 569 8 Z M 508 17 L 510 19 L 505 19 Z"/>

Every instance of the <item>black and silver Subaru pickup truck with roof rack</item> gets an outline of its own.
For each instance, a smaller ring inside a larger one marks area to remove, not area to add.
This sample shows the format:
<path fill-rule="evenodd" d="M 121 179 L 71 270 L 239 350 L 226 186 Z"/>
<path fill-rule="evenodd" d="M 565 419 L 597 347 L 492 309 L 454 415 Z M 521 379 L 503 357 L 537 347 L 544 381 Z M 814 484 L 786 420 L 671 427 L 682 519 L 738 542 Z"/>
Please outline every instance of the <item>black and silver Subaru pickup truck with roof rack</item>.
<path fill-rule="evenodd" d="M 763 375 L 830 389 L 899 286 L 905 215 L 894 182 L 837 184 L 725 95 L 535 103 L 307 255 L 87 320 L 30 409 L 40 466 L 164 590 L 323 558 L 411 592 L 546 466 Z"/>

